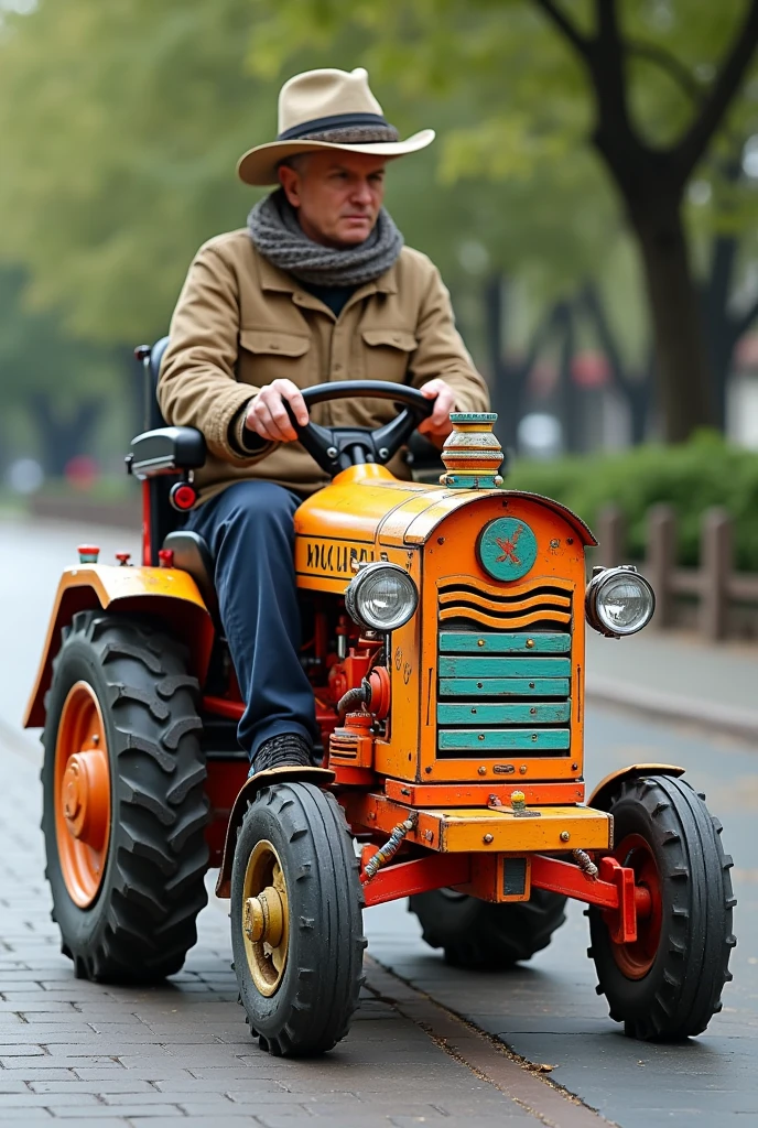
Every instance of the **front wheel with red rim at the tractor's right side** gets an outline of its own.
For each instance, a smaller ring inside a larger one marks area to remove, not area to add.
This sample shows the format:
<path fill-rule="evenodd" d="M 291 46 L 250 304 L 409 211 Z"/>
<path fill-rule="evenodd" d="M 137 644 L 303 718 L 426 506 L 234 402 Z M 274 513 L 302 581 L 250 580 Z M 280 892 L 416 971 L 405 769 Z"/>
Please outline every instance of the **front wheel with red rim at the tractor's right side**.
<path fill-rule="evenodd" d="M 658 924 L 637 922 L 635 945 L 615 944 L 602 913 L 591 908 L 588 954 L 598 994 L 631 1038 L 671 1041 L 702 1033 L 721 1010 L 732 976 L 732 860 L 721 845 L 721 823 L 689 784 L 668 776 L 623 782 L 608 808 L 614 854 L 624 864 L 656 871 Z M 627 846 L 625 847 L 625 841 Z M 637 844 L 635 848 L 634 844 Z M 626 855 L 626 856 L 622 856 Z M 624 949 L 626 951 L 624 951 Z"/>

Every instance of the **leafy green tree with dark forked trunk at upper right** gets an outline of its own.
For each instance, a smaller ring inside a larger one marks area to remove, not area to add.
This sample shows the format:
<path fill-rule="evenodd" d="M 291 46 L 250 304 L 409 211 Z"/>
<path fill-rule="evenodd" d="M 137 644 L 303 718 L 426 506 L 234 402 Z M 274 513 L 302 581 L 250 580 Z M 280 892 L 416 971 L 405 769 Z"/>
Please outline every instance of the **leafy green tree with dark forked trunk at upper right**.
<path fill-rule="evenodd" d="M 277 72 L 305 45 L 367 37 L 364 61 L 407 95 L 475 98 L 449 131 L 448 176 L 536 184 L 563 177 L 591 141 L 634 233 L 654 331 L 668 438 L 714 417 L 686 190 L 724 142 L 728 114 L 756 129 L 758 0 L 256 0 L 252 60 Z M 747 135 L 747 133 L 743 133 Z M 741 155 L 738 155 L 738 158 Z M 720 169 L 708 170 L 711 179 Z M 570 226 L 574 215 L 562 214 Z M 755 203 L 752 204 L 755 212 Z M 734 210 L 732 209 L 732 222 Z M 723 217 L 715 217 L 716 219 Z"/>

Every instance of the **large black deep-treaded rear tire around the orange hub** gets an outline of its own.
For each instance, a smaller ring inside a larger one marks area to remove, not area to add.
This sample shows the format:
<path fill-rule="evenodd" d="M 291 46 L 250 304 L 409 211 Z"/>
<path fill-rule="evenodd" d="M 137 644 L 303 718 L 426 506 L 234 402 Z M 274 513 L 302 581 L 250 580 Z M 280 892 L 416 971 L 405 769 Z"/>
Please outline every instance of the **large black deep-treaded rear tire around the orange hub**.
<path fill-rule="evenodd" d="M 87 682 L 105 723 L 111 831 L 92 904 L 72 900 L 55 834 L 58 726 L 71 687 Z M 184 647 L 149 623 L 80 611 L 64 631 L 45 697 L 42 829 L 53 919 L 77 976 L 152 982 L 179 971 L 208 901 L 208 800 L 202 728 Z"/>

